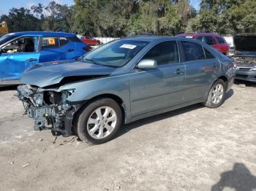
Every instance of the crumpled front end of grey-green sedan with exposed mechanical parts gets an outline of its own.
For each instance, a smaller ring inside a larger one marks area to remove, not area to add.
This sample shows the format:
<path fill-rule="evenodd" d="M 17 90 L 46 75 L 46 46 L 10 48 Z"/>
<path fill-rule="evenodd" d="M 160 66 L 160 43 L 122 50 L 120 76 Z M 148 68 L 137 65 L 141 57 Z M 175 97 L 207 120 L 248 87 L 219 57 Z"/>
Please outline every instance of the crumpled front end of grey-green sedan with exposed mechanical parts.
<path fill-rule="evenodd" d="M 16 95 L 23 102 L 25 114 L 35 120 L 34 130 L 51 129 L 55 134 L 71 136 L 74 114 L 83 104 L 67 101 L 74 92 L 19 85 Z"/>

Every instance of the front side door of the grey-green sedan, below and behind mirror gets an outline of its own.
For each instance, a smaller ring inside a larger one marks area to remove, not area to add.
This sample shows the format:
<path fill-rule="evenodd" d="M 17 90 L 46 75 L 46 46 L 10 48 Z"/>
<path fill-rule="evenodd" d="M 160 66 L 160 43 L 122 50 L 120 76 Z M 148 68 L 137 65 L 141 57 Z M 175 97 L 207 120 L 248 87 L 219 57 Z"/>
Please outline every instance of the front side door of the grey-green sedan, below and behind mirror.
<path fill-rule="evenodd" d="M 157 69 L 132 69 L 129 74 L 132 117 L 184 102 L 185 68 L 176 41 L 160 42 L 143 59 L 157 61 Z"/>

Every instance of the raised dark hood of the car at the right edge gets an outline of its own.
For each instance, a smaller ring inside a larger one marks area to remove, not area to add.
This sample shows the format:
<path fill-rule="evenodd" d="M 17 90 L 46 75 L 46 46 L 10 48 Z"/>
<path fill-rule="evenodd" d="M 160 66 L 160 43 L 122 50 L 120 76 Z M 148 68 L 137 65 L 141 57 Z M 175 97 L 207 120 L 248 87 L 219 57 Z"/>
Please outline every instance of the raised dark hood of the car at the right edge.
<path fill-rule="evenodd" d="M 235 54 L 256 54 L 256 35 L 244 34 L 233 37 Z"/>

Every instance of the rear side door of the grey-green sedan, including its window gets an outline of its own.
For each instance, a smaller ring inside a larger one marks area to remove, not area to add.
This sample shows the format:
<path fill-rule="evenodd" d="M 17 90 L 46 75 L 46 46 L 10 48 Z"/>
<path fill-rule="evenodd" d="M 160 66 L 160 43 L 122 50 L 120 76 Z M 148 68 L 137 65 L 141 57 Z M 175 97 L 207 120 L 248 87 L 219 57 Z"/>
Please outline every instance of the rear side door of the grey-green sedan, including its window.
<path fill-rule="evenodd" d="M 219 74 L 219 60 L 196 42 L 181 41 L 186 68 L 186 101 L 204 98 Z"/>

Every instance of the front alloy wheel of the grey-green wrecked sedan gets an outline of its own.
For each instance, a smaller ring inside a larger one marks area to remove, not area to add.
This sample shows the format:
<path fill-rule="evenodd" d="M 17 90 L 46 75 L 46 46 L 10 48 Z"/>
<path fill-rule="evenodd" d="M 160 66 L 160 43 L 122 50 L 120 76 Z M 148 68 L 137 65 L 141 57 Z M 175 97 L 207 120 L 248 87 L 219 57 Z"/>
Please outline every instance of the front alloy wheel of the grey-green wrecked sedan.
<path fill-rule="evenodd" d="M 121 128 L 121 108 L 110 98 L 91 102 L 78 116 L 78 137 L 85 142 L 102 144 L 116 135 Z"/>

